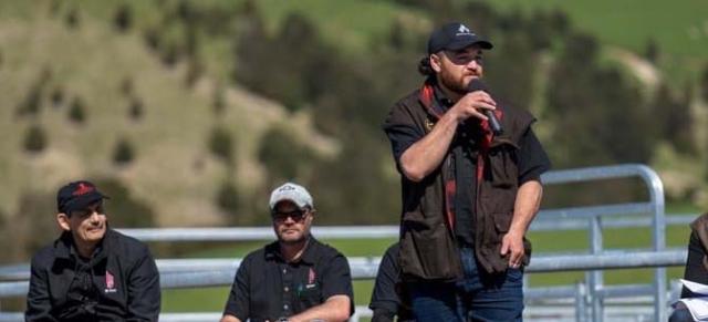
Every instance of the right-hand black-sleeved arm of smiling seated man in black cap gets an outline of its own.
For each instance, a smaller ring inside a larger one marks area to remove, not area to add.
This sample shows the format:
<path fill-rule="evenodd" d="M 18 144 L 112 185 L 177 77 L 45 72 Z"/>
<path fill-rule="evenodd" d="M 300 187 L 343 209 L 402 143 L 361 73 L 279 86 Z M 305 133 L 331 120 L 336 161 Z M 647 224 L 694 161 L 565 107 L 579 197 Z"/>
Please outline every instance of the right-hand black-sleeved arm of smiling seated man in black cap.
<path fill-rule="evenodd" d="M 129 272 L 128 321 L 157 321 L 159 316 L 159 272 L 147 246 Z"/>

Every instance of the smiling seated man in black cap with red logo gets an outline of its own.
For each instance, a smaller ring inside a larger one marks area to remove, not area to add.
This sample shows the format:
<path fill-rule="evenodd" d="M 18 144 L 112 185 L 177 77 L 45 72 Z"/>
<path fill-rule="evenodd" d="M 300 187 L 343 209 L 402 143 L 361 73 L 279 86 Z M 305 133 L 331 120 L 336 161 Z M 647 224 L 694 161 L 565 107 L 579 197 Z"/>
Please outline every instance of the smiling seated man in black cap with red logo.
<path fill-rule="evenodd" d="M 157 321 L 159 274 L 144 243 L 112 229 L 88 181 L 59 189 L 63 230 L 32 258 L 25 321 Z"/>

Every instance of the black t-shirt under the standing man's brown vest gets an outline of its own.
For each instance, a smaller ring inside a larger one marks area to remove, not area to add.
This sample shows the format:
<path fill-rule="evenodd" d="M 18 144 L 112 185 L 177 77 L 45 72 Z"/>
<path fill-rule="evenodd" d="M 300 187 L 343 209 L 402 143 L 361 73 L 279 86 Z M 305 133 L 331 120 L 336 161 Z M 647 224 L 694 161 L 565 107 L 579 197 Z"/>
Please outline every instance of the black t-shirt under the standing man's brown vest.
<path fill-rule="evenodd" d="M 435 87 L 435 104 L 450 107 L 454 103 L 447 100 L 439 87 Z M 397 124 L 386 128 L 386 134 L 391 141 L 394 158 L 399 165 L 400 156 L 426 134 L 414 125 Z M 455 214 L 455 235 L 458 241 L 469 246 L 475 243 L 475 202 L 477 196 L 477 153 L 478 142 L 481 137 L 479 123 L 469 120 L 457 127 L 455 138 L 450 143 L 449 152 L 455 160 L 456 195 L 452 211 Z M 545 150 L 541 146 L 538 137 L 529 128 L 520 142 L 520 149 L 517 154 L 519 168 L 519 185 L 529 180 L 539 180 L 541 174 L 551 168 Z M 400 166 L 398 166 L 400 169 Z"/>

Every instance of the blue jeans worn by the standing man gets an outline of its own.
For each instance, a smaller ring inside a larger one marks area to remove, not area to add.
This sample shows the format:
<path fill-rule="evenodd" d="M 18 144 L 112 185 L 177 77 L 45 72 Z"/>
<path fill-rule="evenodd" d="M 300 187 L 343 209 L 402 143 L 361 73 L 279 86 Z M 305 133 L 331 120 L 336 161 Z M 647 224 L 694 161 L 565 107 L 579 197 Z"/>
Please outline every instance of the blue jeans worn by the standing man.
<path fill-rule="evenodd" d="M 460 248 L 460 257 L 462 280 L 410 285 L 416 321 L 522 321 L 523 272 L 508 269 L 503 273 L 487 273 L 478 269 L 471 248 Z"/>

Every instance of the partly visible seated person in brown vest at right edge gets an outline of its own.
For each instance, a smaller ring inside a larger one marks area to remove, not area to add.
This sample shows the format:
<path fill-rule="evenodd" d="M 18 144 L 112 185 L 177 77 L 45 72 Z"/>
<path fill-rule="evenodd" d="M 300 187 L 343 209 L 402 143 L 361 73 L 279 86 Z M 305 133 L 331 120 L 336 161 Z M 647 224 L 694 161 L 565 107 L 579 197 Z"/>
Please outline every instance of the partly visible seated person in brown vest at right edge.
<path fill-rule="evenodd" d="M 690 240 L 688 241 L 688 260 L 684 279 L 701 284 L 708 284 L 708 214 L 699 216 L 690 224 Z M 688 289 L 681 291 L 681 299 L 702 297 L 694 294 Z M 694 321 L 688 309 L 683 303 L 677 303 L 676 310 L 669 318 L 670 322 Z"/>

